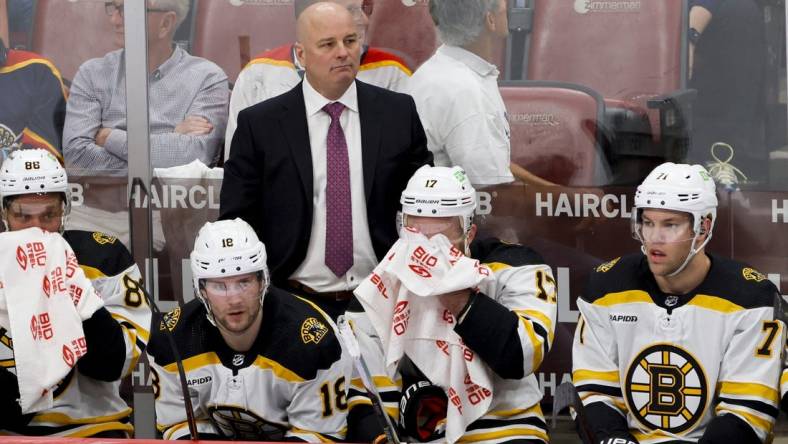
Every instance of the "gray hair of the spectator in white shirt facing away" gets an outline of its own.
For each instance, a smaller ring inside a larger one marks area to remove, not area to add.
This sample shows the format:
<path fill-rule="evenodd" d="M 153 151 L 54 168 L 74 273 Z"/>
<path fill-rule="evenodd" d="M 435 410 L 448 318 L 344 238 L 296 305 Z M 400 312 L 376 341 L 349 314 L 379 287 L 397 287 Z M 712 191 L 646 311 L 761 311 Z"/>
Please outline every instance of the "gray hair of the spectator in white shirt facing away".
<path fill-rule="evenodd" d="M 494 12 L 501 0 L 430 0 L 430 15 L 441 40 L 465 46 L 484 31 L 487 12 Z"/>

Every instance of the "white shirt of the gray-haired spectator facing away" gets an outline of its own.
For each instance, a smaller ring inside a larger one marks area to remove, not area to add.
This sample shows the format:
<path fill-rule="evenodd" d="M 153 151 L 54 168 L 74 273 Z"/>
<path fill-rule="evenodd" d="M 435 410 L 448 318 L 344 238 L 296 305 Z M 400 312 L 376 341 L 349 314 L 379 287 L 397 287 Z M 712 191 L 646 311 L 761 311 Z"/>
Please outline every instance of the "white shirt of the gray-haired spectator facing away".
<path fill-rule="evenodd" d="M 512 182 L 509 121 L 498 68 L 443 45 L 409 81 L 435 166 L 459 165 L 471 183 Z"/>

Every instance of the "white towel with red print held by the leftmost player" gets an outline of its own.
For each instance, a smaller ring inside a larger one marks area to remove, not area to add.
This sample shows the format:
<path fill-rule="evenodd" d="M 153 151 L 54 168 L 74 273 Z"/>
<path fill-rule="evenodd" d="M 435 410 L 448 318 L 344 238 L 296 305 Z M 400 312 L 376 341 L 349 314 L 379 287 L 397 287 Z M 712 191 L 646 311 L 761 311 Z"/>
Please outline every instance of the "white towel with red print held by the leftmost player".
<path fill-rule="evenodd" d="M 87 352 L 82 321 L 104 303 L 59 234 L 0 233 L 0 251 L 0 326 L 13 339 L 22 413 L 47 410 Z"/>

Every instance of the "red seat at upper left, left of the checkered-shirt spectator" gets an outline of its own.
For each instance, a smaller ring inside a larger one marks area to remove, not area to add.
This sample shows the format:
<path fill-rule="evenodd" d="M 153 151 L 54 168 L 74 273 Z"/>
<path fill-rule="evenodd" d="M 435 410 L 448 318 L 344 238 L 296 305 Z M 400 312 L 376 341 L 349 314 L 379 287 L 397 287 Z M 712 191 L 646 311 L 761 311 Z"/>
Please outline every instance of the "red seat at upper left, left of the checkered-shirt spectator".
<path fill-rule="evenodd" d="M 117 49 L 112 35 L 103 0 L 38 0 L 30 48 L 71 80 L 82 62 Z"/>

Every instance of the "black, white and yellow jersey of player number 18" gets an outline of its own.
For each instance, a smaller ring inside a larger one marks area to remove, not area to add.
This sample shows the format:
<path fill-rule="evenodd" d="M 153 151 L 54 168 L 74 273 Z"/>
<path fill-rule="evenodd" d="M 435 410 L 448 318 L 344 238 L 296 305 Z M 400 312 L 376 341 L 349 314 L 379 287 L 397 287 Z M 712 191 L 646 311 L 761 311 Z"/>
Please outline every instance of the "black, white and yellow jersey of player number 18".
<path fill-rule="evenodd" d="M 183 359 L 198 432 L 232 440 L 309 442 L 343 439 L 347 415 L 345 359 L 335 325 L 301 298 L 271 287 L 252 348 L 233 351 L 192 300 L 165 315 Z M 177 363 L 164 326 L 153 332 L 156 425 L 164 439 L 188 437 Z"/>

